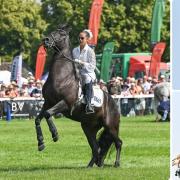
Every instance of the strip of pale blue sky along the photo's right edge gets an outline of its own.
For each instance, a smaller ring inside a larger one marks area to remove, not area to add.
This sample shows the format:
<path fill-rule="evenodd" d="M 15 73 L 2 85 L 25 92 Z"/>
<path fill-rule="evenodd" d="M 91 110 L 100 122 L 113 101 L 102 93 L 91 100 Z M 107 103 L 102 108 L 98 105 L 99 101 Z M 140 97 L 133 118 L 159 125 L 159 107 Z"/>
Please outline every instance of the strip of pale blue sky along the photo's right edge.
<path fill-rule="evenodd" d="M 172 167 L 172 159 L 180 154 L 180 0 L 172 0 L 171 18 L 171 179 L 175 177 L 177 167 Z"/>

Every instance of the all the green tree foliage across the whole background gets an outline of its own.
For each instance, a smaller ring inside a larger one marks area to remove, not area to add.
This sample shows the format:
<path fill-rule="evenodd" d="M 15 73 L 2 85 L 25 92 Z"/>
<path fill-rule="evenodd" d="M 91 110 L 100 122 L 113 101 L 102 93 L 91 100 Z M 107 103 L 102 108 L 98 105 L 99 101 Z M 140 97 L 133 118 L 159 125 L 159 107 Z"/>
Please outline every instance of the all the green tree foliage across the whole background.
<path fill-rule="evenodd" d="M 167 1 L 167 0 L 166 0 Z M 92 1 L 89 0 L 0 0 L 0 56 L 12 60 L 23 50 L 23 59 L 35 65 L 36 53 L 43 34 L 68 23 L 72 47 L 78 45 L 78 34 L 88 27 Z M 150 52 L 151 19 L 154 1 L 104 1 L 96 53 L 105 43 L 115 42 L 115 52 Z M 167 43 L 165 61 L 170 59 L 170 3 L 166 3 L 162 41 Z"/>

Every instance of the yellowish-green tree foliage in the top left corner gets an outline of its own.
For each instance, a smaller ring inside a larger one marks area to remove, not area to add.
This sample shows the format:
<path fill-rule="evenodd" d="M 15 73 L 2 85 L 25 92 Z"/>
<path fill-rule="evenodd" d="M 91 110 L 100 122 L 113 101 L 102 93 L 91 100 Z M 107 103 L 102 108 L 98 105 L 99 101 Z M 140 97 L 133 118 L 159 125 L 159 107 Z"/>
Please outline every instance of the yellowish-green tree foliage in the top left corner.
<path fill-rule="evenodd" d="M 12 60 L 17 51 L 23 52 L 23 59 L 34 59 L 37 46 L 46 29 L 46 22 L 40 16 L 40 5 L 33 0 L 0 1 L 0 52 L 3 59 Z"/>

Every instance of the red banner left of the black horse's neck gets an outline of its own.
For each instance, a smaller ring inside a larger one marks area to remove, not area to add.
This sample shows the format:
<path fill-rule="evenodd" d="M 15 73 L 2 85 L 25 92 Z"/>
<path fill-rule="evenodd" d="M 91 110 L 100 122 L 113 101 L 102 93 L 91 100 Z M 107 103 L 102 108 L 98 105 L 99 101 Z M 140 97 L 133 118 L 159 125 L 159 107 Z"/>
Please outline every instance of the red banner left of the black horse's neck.
<path fill-rule="evenodd" d="M 36 72 L 35 79 L 41 79 L 41 76 L 44 71 L 44 64 L 46 61 L 46 49 L 41 45 L 38 49 L 37 58 L 36 58 Z"/>

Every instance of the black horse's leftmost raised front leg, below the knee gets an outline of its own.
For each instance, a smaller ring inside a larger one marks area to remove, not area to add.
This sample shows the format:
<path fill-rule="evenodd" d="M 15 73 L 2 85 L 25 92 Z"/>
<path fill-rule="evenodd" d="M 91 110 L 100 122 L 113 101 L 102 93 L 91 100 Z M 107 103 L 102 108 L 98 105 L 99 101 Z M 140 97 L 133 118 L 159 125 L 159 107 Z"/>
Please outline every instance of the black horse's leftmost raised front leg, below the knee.
<path fill-rule="evenodd" d="M 44 114 L 44 109 L 41 110 L 41 112 L 39 113 L 39 115 L 36 117 L 35 119 L 35 127 L 36 127 L 36 134 L 37 134 L 37 140 L 38 140 L 38 150 L 42 151 L 45 146 L 44 146 L 44 142 L 43 142 L 43 134 L 42 134 L 42 130 L 41 130 L 41 120 L 43 118 L 43 114 Z"/>

